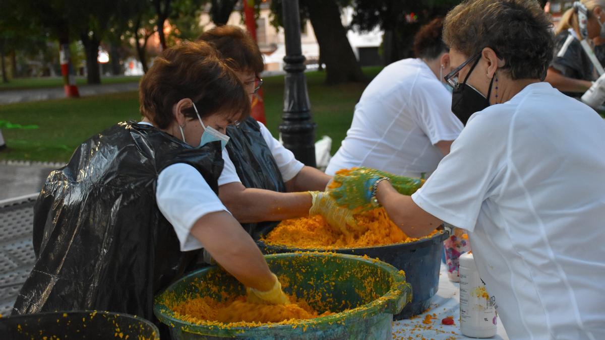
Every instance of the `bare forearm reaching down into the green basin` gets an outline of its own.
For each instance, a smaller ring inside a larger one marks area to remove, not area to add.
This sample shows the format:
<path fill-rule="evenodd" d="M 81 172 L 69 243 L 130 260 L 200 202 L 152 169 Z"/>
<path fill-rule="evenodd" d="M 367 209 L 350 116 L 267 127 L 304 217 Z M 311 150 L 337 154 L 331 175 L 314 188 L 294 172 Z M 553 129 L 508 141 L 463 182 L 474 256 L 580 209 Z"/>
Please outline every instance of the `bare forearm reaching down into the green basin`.
<path fill-rule="evenodd" d="M 261 291 L 273 286 L 273 276 L 263 254 L 229 213 L 204 215 L 195 222 L 191 234 L 244 286 Z"/>

